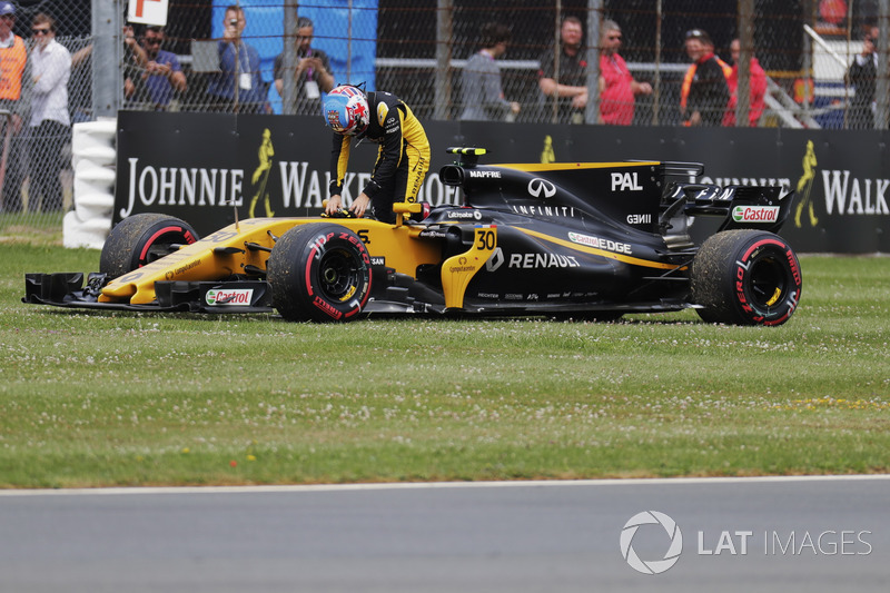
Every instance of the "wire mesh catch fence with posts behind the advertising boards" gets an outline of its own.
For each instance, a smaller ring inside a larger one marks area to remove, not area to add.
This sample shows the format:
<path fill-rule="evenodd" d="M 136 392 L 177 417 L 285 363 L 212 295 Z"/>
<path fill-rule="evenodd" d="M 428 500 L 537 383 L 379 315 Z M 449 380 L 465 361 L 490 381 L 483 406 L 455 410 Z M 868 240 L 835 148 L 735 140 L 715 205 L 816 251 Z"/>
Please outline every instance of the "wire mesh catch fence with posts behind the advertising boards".
<path fill-rule="evenodd" d="M 755 63 L 765 75 L 762 112 L 749 101 L 728 109 L 725 98 L 703 105 L 718 125 L 725 123 L 728 112 L 735 126 L 886 129 L 888 122 L 890 0 L 170 0 L 159 45 L 157 31 L 128 24 L 125 0 L 13 4 L 12 30 L 29 56 L 38 37 L 31 32 L 34 16 L 44 12 L 56 20 L 56 40 L 72 57 L 70 123 L 113 117 L 119 109 L 320 116 L 307 89 L 310 79 L 320 83 L 318 93 L 328 82 L 364 83 L 395 93 L 422 119 L 458 120 L 473 106 L 465 100 L 471 96 L 465 75 L 491 22 L 510 30 L 505 51 L 492 63 L 498 67 L 504 100 L 518 103 L 517 113 L 497 117 L 517 125 L 599 125 L 610 103 L 630 113 L 629 125 L 689 125 L 684 79 L 689 40 L 705 39 L 699 31 L 726 62 L 726 76 L 732 41 L 739 40 L 738 96 L 756 87 Z M 229 4 L 243 10 L 244 23 L 239 51 L 233 52 L 237 77 L 227 81 L 226 48 L 236 47 L 220 45 L 230 26 Z M 582 31 L 574 56 L 571 49 L 548 51 L 561 45 L 567 17 Z M 314 75 L 300 68 L 304 19 L 313 26 L 310 55 L 326 56 L 313 66 L 323 63 L 330 79 L 319 79 L 317 67 Z M 594 49 L 606 45 L 610 32 L 614 37 L 609 28 L 620 30 L 617 55 L 639 83 L 631 100 L 616 99 L 600 85 L 601 76 L 610 78 L 602 69 L 615 68 Z M 868 42 L 873 55 L 863 55 Z M 157 56 L 157 49 L 169 53 Z M 31 63 L 22 75 L 20 100 L 4 103 L 8 113 L 0 113 L 6 139 L 0 239 L 57 228 L 71 207 L 70 142 L 53 141 L 32 125 Z M 850 71 L 854 63 L 864 75 Z M 571 78 L 573 67 L 582 69 L 581 78 Z M 180 82 L 171 70 L 181 70 Z M 581 97 L 545 95 L 542 78 L 575 87 L 571 92 Z M 49 166 L 56 161 L 62 164 L 60 172 Z M 61 196 L 53 194 L 57 187 Z"/>

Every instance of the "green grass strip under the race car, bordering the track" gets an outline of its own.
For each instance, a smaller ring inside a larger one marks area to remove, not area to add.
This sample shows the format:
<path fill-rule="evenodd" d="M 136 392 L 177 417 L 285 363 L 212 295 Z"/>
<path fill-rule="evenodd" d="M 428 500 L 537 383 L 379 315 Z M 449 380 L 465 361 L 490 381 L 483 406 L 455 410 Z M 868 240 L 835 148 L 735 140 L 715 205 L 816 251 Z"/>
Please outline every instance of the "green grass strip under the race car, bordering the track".
<path fill-rule="evenodd" d="M 802 258 L 779 328 L 20 302 L 98 260 L 0 246 L 0 487 L 890 471 L 890 259 Z"/>

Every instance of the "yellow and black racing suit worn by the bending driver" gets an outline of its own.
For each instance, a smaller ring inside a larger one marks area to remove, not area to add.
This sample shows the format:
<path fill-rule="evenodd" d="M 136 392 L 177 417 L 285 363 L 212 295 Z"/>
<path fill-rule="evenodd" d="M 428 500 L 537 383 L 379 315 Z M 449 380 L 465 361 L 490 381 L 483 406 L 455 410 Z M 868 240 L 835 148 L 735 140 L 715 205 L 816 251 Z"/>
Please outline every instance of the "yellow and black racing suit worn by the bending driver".
<path fill-rule="evenodd" d="M 426 171 L 429 169 L 429 140 L 411 108 L 395 95 L 368 92 L 370 122 L 356 138 L 380 145 L 377 162 L 364 192 L 370 198 L 374 218 L 395 223 L 394 201 L 417 201 Z M 330 155 L 330 195 L 343 192 L 346 166 L 349 164 L 352 137 L 334 135 Z"/>

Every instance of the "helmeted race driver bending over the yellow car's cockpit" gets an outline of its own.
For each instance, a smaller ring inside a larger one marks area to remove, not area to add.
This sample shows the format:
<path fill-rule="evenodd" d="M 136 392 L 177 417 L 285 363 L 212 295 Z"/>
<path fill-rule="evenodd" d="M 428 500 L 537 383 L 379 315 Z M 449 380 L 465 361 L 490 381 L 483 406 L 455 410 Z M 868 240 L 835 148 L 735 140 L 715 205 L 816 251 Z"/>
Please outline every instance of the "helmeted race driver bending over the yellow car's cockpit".
<path fill-rule="evenodd" d="M 411 108 L 388 92 L 368 92 L 342 86 L 324 103 L 325 121 L 334 130 L 330 156 L 330 199 L 325 211 L 337 213 L 343 205 L 343 181 L 349 164 L 352 137 L 380 145 L 370 180 L 349 210 L 362 217 L 370 206 L 377 220 L 395 223 L 393 202 L 417 201 L 429 169 L 429 140 Z"/>

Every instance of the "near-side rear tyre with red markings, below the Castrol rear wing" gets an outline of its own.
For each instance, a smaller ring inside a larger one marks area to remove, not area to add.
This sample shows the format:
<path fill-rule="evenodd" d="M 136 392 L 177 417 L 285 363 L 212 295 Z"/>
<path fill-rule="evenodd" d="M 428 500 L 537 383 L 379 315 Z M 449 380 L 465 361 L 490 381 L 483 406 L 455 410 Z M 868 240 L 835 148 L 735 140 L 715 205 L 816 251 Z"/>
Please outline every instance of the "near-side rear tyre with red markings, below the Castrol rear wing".
<path fill-rule="evenodd" d="M 705 322 L 781 325 L 797 309 L 801 287 L 798 256 L 772 233 L 718 233 L 692 261 L 692 302 Z"/>

